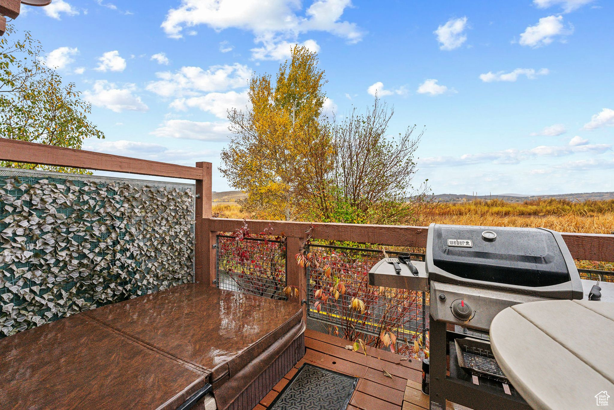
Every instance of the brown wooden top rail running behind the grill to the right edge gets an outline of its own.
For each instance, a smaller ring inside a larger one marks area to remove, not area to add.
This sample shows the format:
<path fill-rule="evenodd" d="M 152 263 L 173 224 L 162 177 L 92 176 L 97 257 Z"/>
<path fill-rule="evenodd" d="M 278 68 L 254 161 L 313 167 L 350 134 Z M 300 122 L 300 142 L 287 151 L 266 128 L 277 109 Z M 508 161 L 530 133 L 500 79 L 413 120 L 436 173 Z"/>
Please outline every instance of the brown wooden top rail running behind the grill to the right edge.
<path fill-rule="evenodd" d="M 241 219 L 208 219 L 211 231 L 235 231 Z M 428 226 L 356 225 L 352 223 L 287 222 L 247 220 L 252 233 L 260 233 L 271 226 L 274 235 L 305 238 L 314 226 L 314 239 L 366 242 L 390 246 L 426 247 Z M 577 260 L 614 262 L 614 235 L 591 233 L 561 233 L 572 257 Z"/>

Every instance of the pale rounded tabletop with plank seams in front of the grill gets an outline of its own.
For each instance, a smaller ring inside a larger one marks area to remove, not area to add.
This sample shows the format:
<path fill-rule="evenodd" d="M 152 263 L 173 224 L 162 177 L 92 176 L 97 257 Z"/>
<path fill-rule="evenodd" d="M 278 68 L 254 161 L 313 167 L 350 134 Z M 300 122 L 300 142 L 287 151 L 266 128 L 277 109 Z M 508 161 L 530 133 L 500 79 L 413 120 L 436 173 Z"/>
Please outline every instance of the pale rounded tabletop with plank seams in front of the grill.
<path fill-rule="evenodd" d="M 516 304 L 497 314 L 490 336 L 503 373 L 535 410 L 614 406 L 614 303 Z"/>

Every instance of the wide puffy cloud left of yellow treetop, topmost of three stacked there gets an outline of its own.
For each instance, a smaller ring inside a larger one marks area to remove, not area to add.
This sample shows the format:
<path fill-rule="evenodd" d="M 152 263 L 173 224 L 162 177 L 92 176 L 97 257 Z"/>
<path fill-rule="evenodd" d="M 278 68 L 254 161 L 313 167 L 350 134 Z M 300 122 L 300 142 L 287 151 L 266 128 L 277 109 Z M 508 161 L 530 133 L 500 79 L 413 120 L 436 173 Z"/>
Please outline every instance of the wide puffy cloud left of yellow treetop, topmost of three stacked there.
<path fill-rule="evenodd" d="M 170 72 L 157 72 L 158 81 L 147 84 L 147 90 L 163 97 L 199 96 L 212 91 L 225 91 L 247 87 L 252 70 L 243 64 L 200 67 L 182 67 Z"/>

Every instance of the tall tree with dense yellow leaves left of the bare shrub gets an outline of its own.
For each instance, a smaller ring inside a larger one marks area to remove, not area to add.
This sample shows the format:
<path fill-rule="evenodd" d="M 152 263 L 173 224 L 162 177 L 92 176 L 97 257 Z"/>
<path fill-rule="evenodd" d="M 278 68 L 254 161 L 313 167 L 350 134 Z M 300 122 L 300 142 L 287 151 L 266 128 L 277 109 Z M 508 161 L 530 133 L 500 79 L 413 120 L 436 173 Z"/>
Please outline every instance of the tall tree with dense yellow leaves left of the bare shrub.
<path fill-rule="evenodd" d="M 300 218 L 310 185 L 332 168 L 332 146 L 322 118 L 326 83 L 317 55 L 293 47 L 274 83 L 255 75 L 252 108 L 230 110 L 230 144 L 220 168 L 233 187 L 247 193 L 244 209 L 265 219 Z M 329 160 L 330 158 L 330 160 Z"/>

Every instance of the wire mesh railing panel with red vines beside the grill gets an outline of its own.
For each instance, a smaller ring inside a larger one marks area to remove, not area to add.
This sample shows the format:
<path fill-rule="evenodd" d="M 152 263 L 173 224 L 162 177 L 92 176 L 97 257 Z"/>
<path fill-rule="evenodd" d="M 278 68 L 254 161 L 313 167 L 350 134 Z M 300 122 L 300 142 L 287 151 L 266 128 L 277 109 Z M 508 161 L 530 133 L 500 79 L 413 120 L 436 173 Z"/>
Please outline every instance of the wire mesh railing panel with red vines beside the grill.
<path fill-rule="evenodd" d="M 309 244 L 307 252 L 309 317 L 336 326 L 350 340 L 362 333 L 378 344 L 382 331 L 393 333 L 399 347 L 425 340 L 428 293 L 368 284 L 368 271 L 384 257 L 381 250 Z M 386 253 L 396 257 L 406 252 Z M 424 260 L 419 253 L 411 257 Z M 355 298 L 364 309 L 352 308 Z"/>

